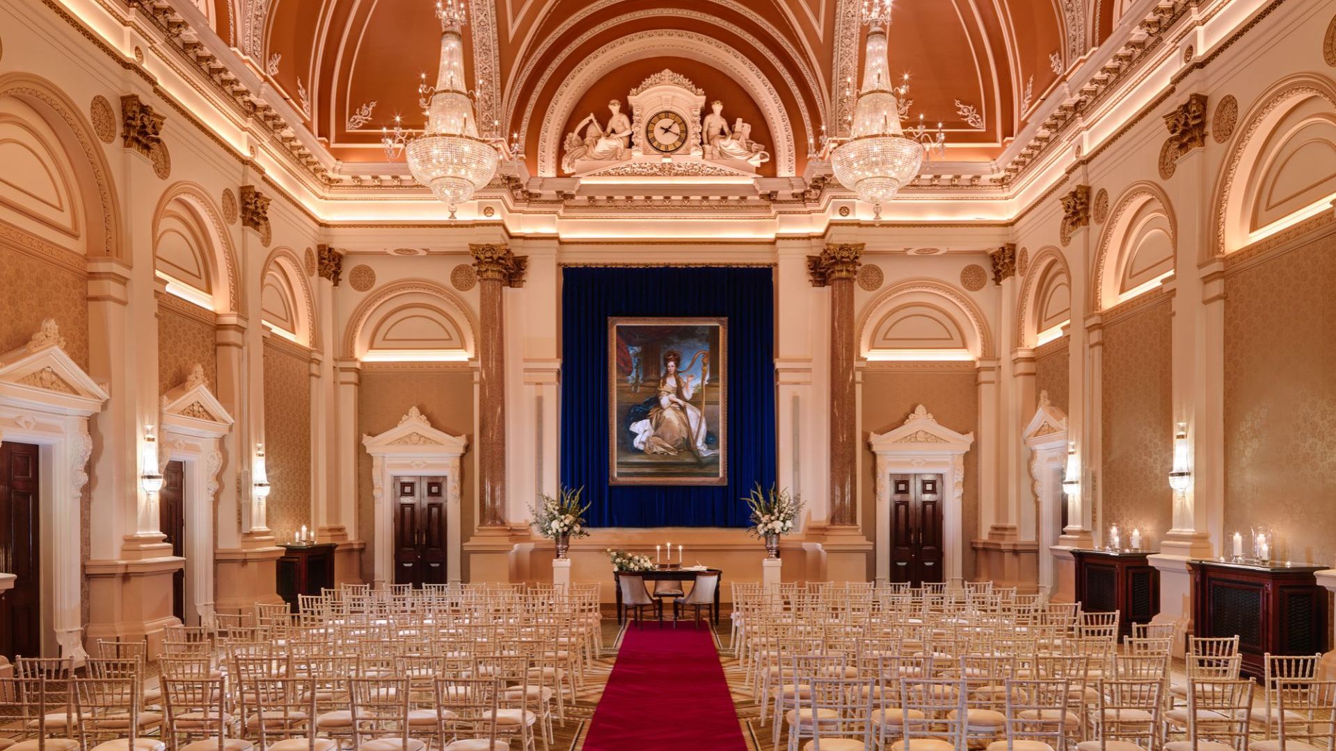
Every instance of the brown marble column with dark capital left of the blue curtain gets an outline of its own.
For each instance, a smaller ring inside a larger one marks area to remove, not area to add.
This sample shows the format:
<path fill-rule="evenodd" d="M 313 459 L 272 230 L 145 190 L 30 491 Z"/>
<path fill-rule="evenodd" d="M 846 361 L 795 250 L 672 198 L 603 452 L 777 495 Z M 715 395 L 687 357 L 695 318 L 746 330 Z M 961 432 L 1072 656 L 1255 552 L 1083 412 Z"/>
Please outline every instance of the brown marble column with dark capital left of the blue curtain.
<path fill-rule="evenodd" d="M 504 245 L 470 243 L 478 273 L 478 508 L 482 527 L 505 525 L 505 317 L 502 290 L 524 285 L 528 257 Z"/>

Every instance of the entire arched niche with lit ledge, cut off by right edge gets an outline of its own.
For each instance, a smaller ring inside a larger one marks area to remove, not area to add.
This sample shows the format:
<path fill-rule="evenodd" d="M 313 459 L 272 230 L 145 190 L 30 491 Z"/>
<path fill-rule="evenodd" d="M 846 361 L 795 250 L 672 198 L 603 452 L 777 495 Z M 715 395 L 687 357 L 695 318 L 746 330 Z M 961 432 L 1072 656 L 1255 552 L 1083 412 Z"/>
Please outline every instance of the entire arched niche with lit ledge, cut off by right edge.
<path fill-rule="evenodd" d="M 1234 130 L 1212 200 L 1202 259 L 1222 257 L 1327 210 L 1336 195 L 1336 84 L 1285 78 Z"/>

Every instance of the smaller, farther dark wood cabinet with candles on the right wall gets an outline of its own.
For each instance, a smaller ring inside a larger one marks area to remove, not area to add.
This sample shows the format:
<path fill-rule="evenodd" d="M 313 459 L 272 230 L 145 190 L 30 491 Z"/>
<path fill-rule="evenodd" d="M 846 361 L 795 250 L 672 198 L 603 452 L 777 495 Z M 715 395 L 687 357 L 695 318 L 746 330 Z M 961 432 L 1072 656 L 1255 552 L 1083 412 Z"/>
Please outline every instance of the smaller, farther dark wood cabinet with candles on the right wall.
<path fill-rule="evenodd" d="M 1150 623 L 1160 612 L 1160 572 L 1146 552 L 1071 551 L 1077 563 L 1077 601 L 1092 613 L 1118 611 L 1120 636 L 1132 624 Z"/>

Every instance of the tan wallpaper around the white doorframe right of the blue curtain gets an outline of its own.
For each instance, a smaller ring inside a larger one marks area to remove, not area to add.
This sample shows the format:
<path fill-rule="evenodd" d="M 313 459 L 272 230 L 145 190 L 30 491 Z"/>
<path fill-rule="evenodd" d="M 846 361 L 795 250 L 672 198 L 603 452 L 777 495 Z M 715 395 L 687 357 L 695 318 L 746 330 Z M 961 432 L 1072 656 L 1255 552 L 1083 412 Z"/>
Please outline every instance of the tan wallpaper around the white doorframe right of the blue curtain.
<path fill-rule="evenodd" d="M 965 577 L 974 576 L 974 548 L 970 540 L 979 537 L 979 465 L 982 449 L 978 436 L 979 396 L 974 369 L 961 370 L 864 370 L 863 371 L 863 429 L 859 434 L 858 472 L 862 474 L 862 524 L 867 537 L 876 527 L 876 457 L 867 445 L 871 433 L 884 433 L 904 424 L 914 408 L 923 405 L 937 421 L 958 433 L 974 433 L 974 445 L 965 454 L 965 497 L 962 522 L 965 529 Z"/>

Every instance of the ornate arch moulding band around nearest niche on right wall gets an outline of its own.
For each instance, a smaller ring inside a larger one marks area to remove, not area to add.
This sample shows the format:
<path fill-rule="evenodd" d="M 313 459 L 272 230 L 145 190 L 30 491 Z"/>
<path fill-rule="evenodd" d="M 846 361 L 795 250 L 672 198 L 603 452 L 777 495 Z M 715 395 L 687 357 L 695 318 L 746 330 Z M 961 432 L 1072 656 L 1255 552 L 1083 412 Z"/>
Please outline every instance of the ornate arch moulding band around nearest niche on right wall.
<path fill-rule="evenodd" d="M 1212 223 L 1210 242 L 1204 249 L 1205 253 L 1198 261 L 1209 261 L 1212 257 L 1222 258 L 1246 245 L 1248 233 L 1237 230 L 1232 235 L 1228 227 L 1228 218 L 1234 216 L 1236 222 L 1242 222 L 1242 218 L 1246 215 L 1242 210 L 1244 194 L 1253 182 L 1253 172 L 1257 167 L 1256 159 L 1259 156 L 1259 154 L 1249 155 L 1252 140 L 1261 126 L 1271 120 L 1272 115 L 1281 106 L 1289 103 L 1297 106 L 1301 100 L 1313 96 L 1321 98 L 1329 107 L 1336 108 L 1336 84 L 1331 79 L 1312 73 L 1299 73 L 1281 80 L 1259 98 L 1259 104 L 1255 104 L 1248 112 L 1246 126 L 1234 131 L 1233 140 L 1229 144 L 1229 155 L 1225 158 L 1225 166 L 1216 182 L 1216 192 L 1212 200 L 1212 206 L 1216 207 L 1216 216 Z M 1263 146 L 1257 147 L 1259 150 L 1265 148 L 1265 140 L 1263 139 Z M 1242 168 L 1245 156 L 1249 156 L 1249 163 L 1246 168 Z M 1234 195 L 1234 182 L 1240 171 L 1244 172 L 1245 179 L 1238 188 L 1238 195 Z M 1236 247 L 1229 247 L 1230 245 L 1236 245 Z"/>

